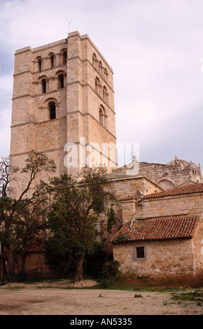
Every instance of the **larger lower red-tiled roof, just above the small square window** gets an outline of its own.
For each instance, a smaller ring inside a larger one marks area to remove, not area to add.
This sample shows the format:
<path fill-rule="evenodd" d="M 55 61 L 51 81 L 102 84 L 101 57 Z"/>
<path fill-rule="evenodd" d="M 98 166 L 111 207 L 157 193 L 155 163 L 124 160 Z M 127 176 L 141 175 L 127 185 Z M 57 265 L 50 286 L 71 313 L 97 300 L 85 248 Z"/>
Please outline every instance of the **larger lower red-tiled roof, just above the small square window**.
<path fill-rule="evenodd" d="M 191 239 L 195 234 L 198 222 L 198 217 L 186 217 L 144 220 L 133 223 L 132 228 L 130 228 L 130 224 L 126 224 L 114 235 L 111 242 Z"/>

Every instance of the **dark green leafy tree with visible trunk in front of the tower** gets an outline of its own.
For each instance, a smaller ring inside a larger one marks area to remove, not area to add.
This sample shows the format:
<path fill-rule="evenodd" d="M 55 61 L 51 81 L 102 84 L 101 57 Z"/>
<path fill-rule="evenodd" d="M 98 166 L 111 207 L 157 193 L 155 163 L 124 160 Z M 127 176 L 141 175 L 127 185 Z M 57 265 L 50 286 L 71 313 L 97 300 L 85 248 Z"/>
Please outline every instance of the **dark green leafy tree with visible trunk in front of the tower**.
<path fill-rule="evenodd" d="M 95 241 L 99 239 L 96 225 L 104 201 L 116 202 L 104 167 L 85 167 L 79 176 L 79 181 L 68 174 L 50 180 L 54 202 L 48 215 L 48 241 L 73 262 L 73 282 L 83 281 L 85 255 L 91 255 L 96 248 Z M 51 259 L 47 263 L 52 266 Z"/>

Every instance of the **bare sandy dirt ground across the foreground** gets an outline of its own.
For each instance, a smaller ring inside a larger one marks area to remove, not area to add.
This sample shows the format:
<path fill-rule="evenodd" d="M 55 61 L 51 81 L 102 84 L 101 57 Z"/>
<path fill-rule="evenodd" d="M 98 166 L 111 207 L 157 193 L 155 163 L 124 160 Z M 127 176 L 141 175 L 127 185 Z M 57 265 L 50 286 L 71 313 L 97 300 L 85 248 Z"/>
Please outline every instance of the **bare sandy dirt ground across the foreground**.
<path fill-rule="evenodd" d="M 94 283 L 87 280 L 85 286 Z M 174 301 L 172 292 L 72 288 L 65 280 L 0 287 L 0 315 L 200 314 L 202 303 Z"/>

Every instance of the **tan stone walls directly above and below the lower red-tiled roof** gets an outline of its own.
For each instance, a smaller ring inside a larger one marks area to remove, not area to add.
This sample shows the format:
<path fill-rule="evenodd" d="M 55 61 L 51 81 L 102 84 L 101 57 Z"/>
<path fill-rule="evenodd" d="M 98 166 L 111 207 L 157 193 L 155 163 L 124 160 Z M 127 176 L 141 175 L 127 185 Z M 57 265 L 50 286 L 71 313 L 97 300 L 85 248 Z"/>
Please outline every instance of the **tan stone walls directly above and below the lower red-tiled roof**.
<path fill-rule="evenodd" d="M 139 275 L 198 273 L 203 265 L 203 195 L 175 195 L 144 199 L 139 207 L 136 200 L 123 201 L 123 224 L 130 223 L 130 212 L 136 211 L 134 221 L 153 221 L 158 218 L 199 217 L 193 239 L 160 241 L 132 241 L 113 244 L 113 258 L 119 260 L 121 270 Z M 134 260 L 137 246 L 144 246 L 146 257 Z"/>

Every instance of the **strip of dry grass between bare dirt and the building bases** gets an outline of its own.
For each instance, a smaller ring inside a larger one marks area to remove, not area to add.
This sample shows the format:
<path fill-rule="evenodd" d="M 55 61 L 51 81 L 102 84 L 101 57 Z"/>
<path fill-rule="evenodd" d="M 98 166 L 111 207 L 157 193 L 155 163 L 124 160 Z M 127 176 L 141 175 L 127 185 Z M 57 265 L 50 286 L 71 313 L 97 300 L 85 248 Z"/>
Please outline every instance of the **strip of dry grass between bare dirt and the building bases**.
<path fill-rule="evenodd" d="M 94 279 L 94 278 L 85 278 L 85 279 Z M 183 288 L 198 288 L 203 287 L 203 273 L 199 275 L 165 275 L 165 276 L 141 276 L 136 275 L 132 272 L 127 274 L 118 274 L 114 277 L 106 278 L 102 277 L 100 279 L 94 279 L 97 284 L 94 286 L 87 287 L 77 287 L 74 289 L 105 289 L 105 290 L 134 290 L 147 291 L 147 292 L 172 292 L 176 290 L 178 293 L 179 290 L 183 291 Z M 26 285 L 34 284 L 35 288 L 60 288 L 60 289 L 73 289 L 73 287 L 57 286 L 57 283 L 64 281 L 61 278 L 44 278 L 36 280 L 27 280 L 25 281 Z M 40 283 L 45 283 L 44 286 L 40 286 Z M 71 282 L 71 279 L 66 279 L 66 282 Z M 54 284 L 56 283 L 56 284 Z M 6 286 L 2 286 L 5 288 Z M 1 288 L 1 286 L 0 286 Z M 15 287 L 12 287 L 15 288 Z M 25 288 L 25 287 L 22 287 Z M 20 287 L 16 286 L 16 289 Z M 183 296 L 181 296 L 183 297 Z M 186 298 L 189 296 L 185 296 Z M 190 296 L 191 297 L 191 296 Z M 202 296 L 199 297 L 199 302 L 202 302 Z M 178 298 L 174 296 L 174 298 Z"/>

